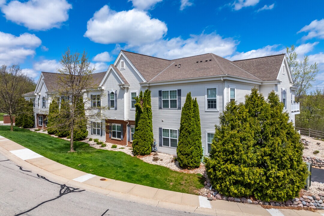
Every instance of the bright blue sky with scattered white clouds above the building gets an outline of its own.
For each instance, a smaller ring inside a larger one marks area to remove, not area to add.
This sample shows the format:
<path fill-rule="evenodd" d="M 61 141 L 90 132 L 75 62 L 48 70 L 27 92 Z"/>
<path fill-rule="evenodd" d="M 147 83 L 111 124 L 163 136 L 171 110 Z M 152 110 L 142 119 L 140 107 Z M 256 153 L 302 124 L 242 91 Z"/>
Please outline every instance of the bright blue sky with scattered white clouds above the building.
<path fill-rule="evenodd" d="M 230 60 L 285 52 L 295 44 L 324 86 L 324 1 L 0 0 L 0 64 L 37 79 L 55 72 L 69 46 L 97 72 L 121 49 L 175 59 L 213 52 Z"/>

